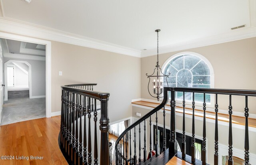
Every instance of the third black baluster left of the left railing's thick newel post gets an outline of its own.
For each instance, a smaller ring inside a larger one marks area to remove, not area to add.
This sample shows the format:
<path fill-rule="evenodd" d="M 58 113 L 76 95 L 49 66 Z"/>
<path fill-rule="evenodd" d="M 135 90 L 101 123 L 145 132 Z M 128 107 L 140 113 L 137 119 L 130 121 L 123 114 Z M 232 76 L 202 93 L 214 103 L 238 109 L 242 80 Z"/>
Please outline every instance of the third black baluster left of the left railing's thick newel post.
<path fill-rule="evenodd" d="M 86 114 L 87 114 L 87 107 L 86 107 L 86 96 L 83 96 L 83 107 L 84 107 L 84 165 L 87 165 L 87 135 L 86 135 Z"/>

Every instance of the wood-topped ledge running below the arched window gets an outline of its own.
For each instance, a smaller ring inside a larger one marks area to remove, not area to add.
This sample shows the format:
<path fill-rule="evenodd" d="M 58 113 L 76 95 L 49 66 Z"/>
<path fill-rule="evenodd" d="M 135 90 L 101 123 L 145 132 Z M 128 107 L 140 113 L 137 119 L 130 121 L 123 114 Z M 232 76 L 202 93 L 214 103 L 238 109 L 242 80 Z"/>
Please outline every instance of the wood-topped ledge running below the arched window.
<path fill-rule="evenodd" d="M 141 105 L 141 106 L 148 106 L 148 107 L 151 107 L 151 108 L 156 108 L 156 106 L 159 105 L 158 103 L 146 102 L 146 101 L 136 101 L 136 102 L 132 102 L 132 104 L 137 104 L 137 105 Z M 182 107 L 178 107 L 178 108 L 182 108 Z M 181 109 L 179 110 L 178 108 L 176 109 L 176 112 L 177 113 L 183 113 L 183 110 L 181 110 Z M 165 110 L 170 111 L 170 105 L 166 105 Z M 190 108 L 186 108 L 185 109 L 185 114 L 192 115 L 192 110 Z M 203 111 L 202 110 L 195 110 L 195 116 L 203 117 L 204 116 Z M 215 112 L 206 111 L 206 118 L 215 120 Z M 229 115 L 218 113 L 218 120 L 222 121 L 222 122 L 229 122 Z M 241 117 L 241 116 L 232 115 L 232 123 L 244 126 L 245 125 L 245 118 Z M 250 127 L 256 128 L 256 119 L 248 118 L 248 125 Z"/>

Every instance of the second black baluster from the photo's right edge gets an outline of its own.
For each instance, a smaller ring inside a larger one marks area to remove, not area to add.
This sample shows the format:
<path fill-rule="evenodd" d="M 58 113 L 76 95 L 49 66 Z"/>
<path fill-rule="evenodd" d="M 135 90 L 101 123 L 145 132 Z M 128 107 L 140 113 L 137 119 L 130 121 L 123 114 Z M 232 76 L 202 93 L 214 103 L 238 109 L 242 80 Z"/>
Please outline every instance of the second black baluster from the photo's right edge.
<path fill-rule="evenodd" d="M 228 131 L 228 165 L 233 165 L 233 138 L 232 138 L 232 104 L 231 104 L 231 95 L 229 95 L 229 131 Z"/>

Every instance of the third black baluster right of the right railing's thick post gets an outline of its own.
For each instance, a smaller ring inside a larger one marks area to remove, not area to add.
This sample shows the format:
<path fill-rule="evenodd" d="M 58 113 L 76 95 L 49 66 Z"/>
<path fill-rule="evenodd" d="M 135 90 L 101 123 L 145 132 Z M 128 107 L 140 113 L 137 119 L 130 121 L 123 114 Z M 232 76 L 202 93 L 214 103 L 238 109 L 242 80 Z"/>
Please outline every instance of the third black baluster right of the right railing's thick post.
<path fill-rule="evenodd" d="M 205 102 L 205 93 L 204 93 L 204 121 L 203 121 L 203 147 L 202 147 L 202 165 L 206 165 L 206 102 Z"/>

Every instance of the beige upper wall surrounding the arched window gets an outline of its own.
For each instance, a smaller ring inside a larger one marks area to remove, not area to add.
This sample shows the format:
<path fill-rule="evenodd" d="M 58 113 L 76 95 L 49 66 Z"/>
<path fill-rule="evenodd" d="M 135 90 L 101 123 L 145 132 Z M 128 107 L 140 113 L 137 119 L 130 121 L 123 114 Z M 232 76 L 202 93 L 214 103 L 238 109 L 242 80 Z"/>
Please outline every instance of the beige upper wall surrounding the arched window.
<path fill-rule="evenodd" d="M 186 49 L 206 57 L 214 70 L 214 88 L 256 90 L 256 37 L 242 39 L 216 45 Z M 175 51 L 159 55 L 160 66 L 172 55 L 182 52 Z M 141 97 L 154 99 L 148 94 L 148 78 L 156 65 L 156 55 L 141 59 Z M 244 112 L 244 97 L 234 96 L 233 110 Z M 219 108 L 228 108 L 228 96 L 219 97 Z M 256 114 L 256 99 L 249 98 L 251 114 Z"/>

